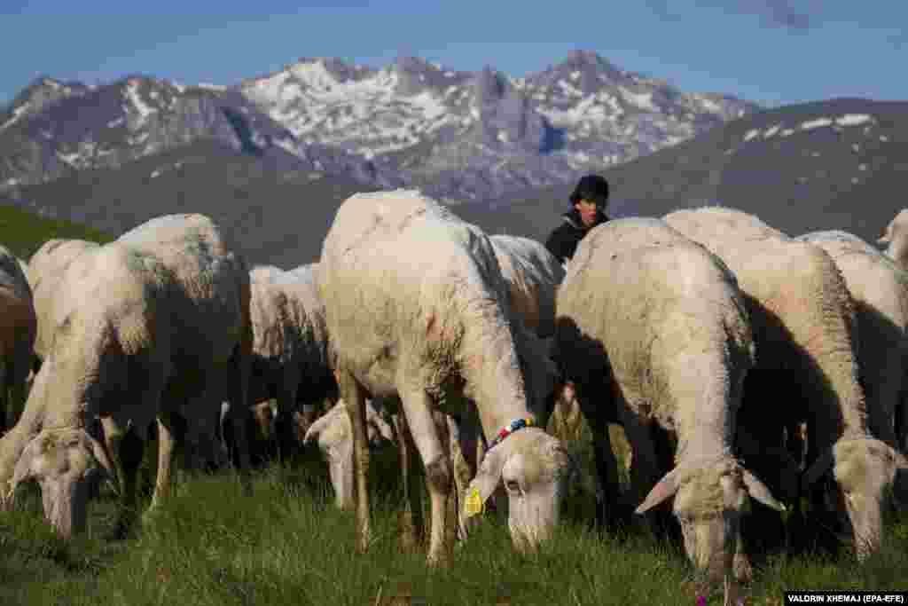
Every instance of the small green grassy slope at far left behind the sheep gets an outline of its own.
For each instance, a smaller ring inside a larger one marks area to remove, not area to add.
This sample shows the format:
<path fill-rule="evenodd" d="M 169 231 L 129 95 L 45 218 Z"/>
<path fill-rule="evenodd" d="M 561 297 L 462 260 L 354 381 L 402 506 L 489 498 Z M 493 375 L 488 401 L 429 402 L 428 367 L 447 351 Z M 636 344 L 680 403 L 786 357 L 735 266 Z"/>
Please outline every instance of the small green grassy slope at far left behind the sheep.
<path fill-rule="evenodd" d="M 41 245 L 53 238 L 78 238 L 94 242 L 110 242 L 108 233 L 61 219 L 38 216 L 15 206 L 0 205 L 0 244 L 24 261 Z"/>

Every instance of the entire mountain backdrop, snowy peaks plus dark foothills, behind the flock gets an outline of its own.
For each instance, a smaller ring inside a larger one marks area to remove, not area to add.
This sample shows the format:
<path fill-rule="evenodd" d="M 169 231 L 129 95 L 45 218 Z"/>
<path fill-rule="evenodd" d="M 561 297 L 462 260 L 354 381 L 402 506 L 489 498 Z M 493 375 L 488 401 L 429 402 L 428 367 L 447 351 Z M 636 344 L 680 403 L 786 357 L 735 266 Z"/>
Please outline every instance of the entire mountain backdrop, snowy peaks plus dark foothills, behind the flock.
<path fill-rule="evenodd" d="M 394 187 L 543 240 L 587 171 L 612 185 L 615 217 L 723 204 L 873 242 L 906 205 L 908 102 L 762 109 L 576 53 L 520 80 L 414 58 L 303 59 L 230 88 L 42 78 L 0 114 L 0 204 L 113 235 L 209 214 L 252 263 L 284 268 L 318 259 L 350 194 Z"/>

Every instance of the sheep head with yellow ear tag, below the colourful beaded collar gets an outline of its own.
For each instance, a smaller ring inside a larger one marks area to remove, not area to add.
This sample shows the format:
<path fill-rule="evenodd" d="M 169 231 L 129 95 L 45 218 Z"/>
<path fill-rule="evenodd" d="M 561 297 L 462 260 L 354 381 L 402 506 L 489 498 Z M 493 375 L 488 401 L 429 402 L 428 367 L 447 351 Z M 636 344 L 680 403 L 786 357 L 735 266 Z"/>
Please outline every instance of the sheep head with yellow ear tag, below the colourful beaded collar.
<path fill-rule="evenodd" d="M 548 433 L 527 427 L 510 434 L 486 453 L 479 472 L 469 482 L 459 512 L 462 536 L 468 536 L 470 519 L 482 511 L 498 482 L 503 482 L 508 492 L 511 540 L 519 551 L 535 548 L 552 536 L 568 487 L 578 476 L 577 462 Z"/>

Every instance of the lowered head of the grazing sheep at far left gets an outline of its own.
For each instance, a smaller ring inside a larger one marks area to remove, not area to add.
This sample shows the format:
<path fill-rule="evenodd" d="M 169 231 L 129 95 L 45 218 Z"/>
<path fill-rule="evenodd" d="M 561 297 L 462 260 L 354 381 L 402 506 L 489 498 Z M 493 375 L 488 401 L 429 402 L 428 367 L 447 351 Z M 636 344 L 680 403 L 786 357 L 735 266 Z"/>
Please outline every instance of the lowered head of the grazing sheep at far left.
<path fill-rule="evenodd" d="M 41 486 L 44 517 L 64 539 L 84 531 L 91 482 L 113 480 L 114 469 L 100 442 L 81 429 L 44 430 L 19 456 L 10 496 L 21 482 Z"/>

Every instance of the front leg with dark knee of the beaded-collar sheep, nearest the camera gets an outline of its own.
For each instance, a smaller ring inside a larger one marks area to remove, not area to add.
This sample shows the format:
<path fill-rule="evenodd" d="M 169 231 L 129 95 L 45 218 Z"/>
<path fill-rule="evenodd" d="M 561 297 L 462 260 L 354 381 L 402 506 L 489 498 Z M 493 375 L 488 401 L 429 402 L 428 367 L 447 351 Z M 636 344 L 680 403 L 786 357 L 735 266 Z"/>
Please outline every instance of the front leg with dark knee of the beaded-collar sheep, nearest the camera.
<path fill-rule="evenodd" d="M 429 531 L 429 564 L 444 563 L 448 556 L 445 544 L 447 527 L 447 502 L 451 492 L 449 452 L 445 450 L 432 418 L 429 394 L 417 388 L 401 393 L 403 412 L 407 415 L 410 433 L 422 457 L 426 470 L 426 488 L 431 502 L 431 530 Z"/>

